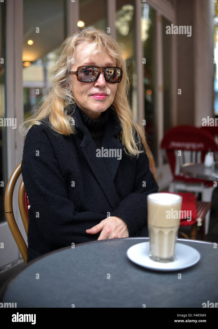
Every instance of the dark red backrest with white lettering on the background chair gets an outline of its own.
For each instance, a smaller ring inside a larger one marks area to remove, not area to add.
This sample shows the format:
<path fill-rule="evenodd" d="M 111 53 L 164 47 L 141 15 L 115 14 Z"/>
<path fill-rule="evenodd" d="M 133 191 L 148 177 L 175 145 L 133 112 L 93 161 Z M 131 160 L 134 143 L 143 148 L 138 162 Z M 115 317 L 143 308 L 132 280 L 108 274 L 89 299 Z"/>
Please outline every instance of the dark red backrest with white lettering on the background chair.
<path fill-rule="evenodd" d="M 172 174 L 180 174 L 184 163 L 204 162 L 206 152 L 218 151 L 214 138 L 206 130 L 183 125 L 170 128 L 164 135 L 160 147 L 166 149 Z M 181 151 L 179 153 L 178 151 Z"/>

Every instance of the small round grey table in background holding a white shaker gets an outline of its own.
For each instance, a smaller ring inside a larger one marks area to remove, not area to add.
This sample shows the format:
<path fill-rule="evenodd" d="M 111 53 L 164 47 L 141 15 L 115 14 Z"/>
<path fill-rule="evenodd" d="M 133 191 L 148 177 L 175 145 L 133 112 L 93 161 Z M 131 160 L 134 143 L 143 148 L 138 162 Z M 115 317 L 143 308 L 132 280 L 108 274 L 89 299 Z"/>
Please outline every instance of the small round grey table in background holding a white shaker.
<path fill-rule="evenodd" d="M 208 181 L 218 181 L 218 169 L 214 167 L 207 168 L 203 163 L 183 164 L 181 166 L 181 171 L 183 174 L 191 177 L 206 179 Z"/>

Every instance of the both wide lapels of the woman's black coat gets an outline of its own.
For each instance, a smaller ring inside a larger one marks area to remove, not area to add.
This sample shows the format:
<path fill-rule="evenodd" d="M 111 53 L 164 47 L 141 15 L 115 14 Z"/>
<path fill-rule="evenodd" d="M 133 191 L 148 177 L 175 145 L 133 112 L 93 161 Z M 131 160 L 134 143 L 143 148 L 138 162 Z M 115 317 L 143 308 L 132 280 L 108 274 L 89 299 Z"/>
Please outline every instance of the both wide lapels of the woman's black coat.
<path fill-rule="evenodd" d="M 121 127 L 111 108 L 109 108 L 109 111 L 109 118 L 105 123 L 102 147 L 104 149 L 119 149 L 120 152 L 122 152 L 122 156 L 124 145 L 115 138 L 115 135 L 121 131 Z M 118 160 L 115 157 L 97 157 L 97 147 L 91 138 L 88 129 L 84 125 L 77 107 L 75 108 L 73 117 L 75 120 L 75 127 L 84 133 L 83 139 L 79 145 L 80 149 L 98 181 L 98 184 L 103 190 L 112 210 L 115 210 L 119 204 L 119 197 L 113 181 L 121 160 Z M 104 175 L 102 175 L 102 172 Z"/>

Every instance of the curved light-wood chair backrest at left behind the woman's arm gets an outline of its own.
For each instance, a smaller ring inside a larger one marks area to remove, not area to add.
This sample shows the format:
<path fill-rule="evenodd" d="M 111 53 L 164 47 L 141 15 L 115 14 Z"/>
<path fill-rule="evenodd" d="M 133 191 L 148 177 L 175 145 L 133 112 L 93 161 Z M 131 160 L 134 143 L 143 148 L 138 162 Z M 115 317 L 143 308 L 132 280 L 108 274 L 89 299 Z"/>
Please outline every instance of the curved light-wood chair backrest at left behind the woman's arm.
<path fill-rule="evenodd" d="M 21 162 L 16 166 L 16 168 L 13 170 L 11 177 L 9 178 L 6 191 L 5 191 L 5 215 L 7 218 L 8 226 L 12 232 L 13 238 L 20 250 L 20 253 L 23 257 L 24 263 L 27 263 L 27 245 L 26 242 L 23 239 L 23 236 L 17 226 L 17 223 L 15 221 L 14 215 L 13 215 L 13 206 L 12 206 L 12 199 L 13 199 L 13 191 L 14 186 L 16 184 L 16 181 L 18 177 L 21 174 Z M 27 195 L 25 186 L 23 183 L 23 179 L 20 182 L 19 191 L 18 191 L 18 206 L 20 210 L 20 215 L 23 221 L 24 229 L 27 235 L 28 232 L 28 224 L 29 224 L 29 217 L 28 217 L 28 211 L 26 208 L 26 205 L 28 205 Z"/>

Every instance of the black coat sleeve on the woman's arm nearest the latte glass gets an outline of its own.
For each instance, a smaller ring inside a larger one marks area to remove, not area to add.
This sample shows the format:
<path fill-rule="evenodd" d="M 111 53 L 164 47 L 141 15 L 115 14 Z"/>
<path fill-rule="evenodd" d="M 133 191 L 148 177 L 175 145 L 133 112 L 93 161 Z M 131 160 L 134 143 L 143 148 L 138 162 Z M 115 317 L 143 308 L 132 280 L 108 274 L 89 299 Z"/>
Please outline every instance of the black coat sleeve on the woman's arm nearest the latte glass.
<path fill-rule="evenodd" d="M 147 226 L 147 195 L 158 191 L 158 185 L 149 168 L 149 159 L 144 152 L 136 161 L 136 175 L 133 191 L 110 216 L 122 218 L 128 227 L 129 237 L 133 237 L 142 227 Z"/>

